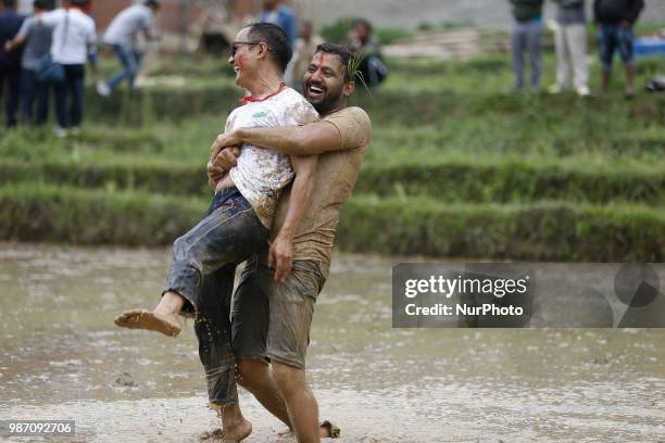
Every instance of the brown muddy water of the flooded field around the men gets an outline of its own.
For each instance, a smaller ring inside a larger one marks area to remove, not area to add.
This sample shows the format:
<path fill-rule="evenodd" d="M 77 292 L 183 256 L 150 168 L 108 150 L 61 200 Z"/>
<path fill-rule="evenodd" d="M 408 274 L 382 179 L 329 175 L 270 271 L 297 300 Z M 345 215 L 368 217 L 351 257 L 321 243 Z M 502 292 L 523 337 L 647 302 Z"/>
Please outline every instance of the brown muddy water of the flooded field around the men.
<path fill-rule="evenodd" d="M 0 244 L 0 419 L 73 419 L 81 442 L 214 429 L 191 322 L 178 339 L 112 324 L 156 301 L 167 261 Z M 310 375 L 340 442 L 665 441 L 665 331 L 393 330 L 398 262 L 338 254 L 316 305 Z M 289 441 L 240 401 L 248 442 Z"/>

